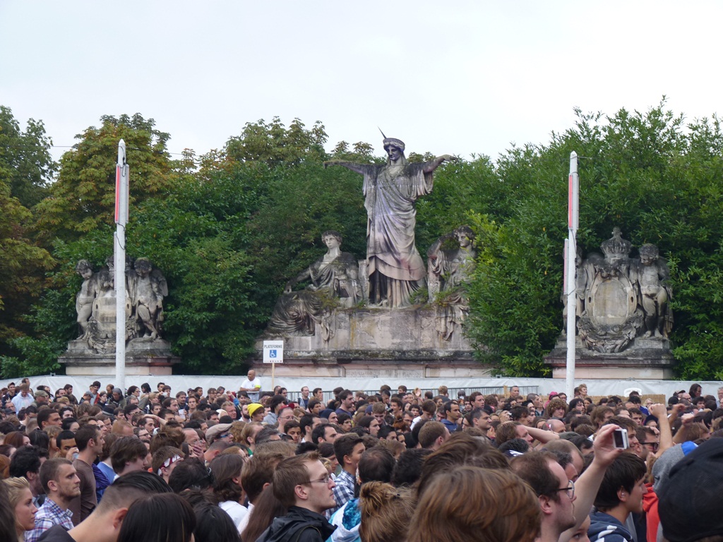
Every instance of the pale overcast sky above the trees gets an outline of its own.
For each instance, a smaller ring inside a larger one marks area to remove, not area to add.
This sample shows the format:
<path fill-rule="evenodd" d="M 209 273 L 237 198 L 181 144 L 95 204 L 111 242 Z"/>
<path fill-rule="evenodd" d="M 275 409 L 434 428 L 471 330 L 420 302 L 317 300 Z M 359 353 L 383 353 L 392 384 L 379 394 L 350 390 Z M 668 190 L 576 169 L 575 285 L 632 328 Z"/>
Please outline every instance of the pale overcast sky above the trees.
<path fill-rule="evenodd" d="M 43 120 L 56 158 L 122 113 L 171 152 L 279 116 L 322 121 L 329 149 L 381 154 L 380 126 L 408 152 L 496 158 L 575 107 L 720 111 L 722 20 L 713 1 L 0 0 L 0 104 Z"/>

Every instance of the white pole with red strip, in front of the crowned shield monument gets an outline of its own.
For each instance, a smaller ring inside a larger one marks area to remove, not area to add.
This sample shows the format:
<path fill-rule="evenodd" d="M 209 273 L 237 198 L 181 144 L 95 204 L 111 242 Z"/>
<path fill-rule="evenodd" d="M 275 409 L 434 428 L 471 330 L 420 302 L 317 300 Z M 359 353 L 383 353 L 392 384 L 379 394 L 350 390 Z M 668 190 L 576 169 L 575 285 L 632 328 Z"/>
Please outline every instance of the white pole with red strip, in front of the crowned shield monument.
<path fill-rule="evenodd" d="M 570 152 L 570 176 L 568 177 L 568 243 L 567 243 L 567 272 L 565 273 L 565 293 L 568 296 L 568 358 L 565 370 L 565 393 L 568 400 L 574 397 L 575 390 L 575 327 L 576 327 L 576 278 L 575 278 L 575 241 L 578 230 L 578 192 L 580 179 L 578 178 L 578 155 Z"/>

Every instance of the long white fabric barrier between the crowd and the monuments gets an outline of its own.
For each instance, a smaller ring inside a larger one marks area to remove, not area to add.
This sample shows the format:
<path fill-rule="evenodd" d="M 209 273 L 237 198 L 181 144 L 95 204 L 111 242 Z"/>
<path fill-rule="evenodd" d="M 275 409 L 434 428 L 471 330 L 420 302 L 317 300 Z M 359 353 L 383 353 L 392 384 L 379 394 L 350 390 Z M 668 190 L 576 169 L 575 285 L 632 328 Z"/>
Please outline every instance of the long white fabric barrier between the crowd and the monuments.
<path fill-rule="evenodd" d="M 265 368 L 264 368 L 265 369 Z M 271 384 L 271 368 L 268 371 L 260 371 L 257 369 L 257 378 L 262 384 L 262 391 L 272 391 Z M 227 390 L 236 391 L 239 389 L 241 382 L 246 379 L 245 375 L 236 376 L 193 376 L 193 375 L 168 375 L 168 376 L 145 376 L 139 377 L 127 375 L 126 385 L 136 385 L 147 382 L 153 391 L 156 389 L 158 382 L 163 382 L 171 386 L 171 391 L 175 394 L 181 390 L 186 391 L 189 388 L 201 386 L 204 390 L 209 387 L 223 386 Z M 72 384 L 73 394 L 80 398 L 83 392 L 88 390 L 90 384 L 98 380 L 102 387 L 106 384 L 113 384 L 114 377 L 85 377 L 85 376 L 35 376 L 30 377 L 30 385 L 35 390 L 39 385 L 48 385 L 53 392 L 65 384 Z M 7 387 L 9 382 L 20 384 L 20 378 L 0 380 L 0 387 Z M 688 391 L 691 384 L 701 384 L 703 387 L 703 395 L 714 395 L 717 397 L 717 390 L 723 386 L 723 382 L 711 381 L 688 381 L 688 380 L 603 380 L 603 379 L 580 379 L 576 380 L 576 386 L 581 383 L 587 384 L 589 395 L 628 395 L 631 389 L 638 390 L 641 395 L 665 395 L 670 397 L 673 392 L 680 390 Z M 409 390 L 419 387 L 422 390 L 436 390 L 442 384 L 450 390 L 450 397 L 455 397 L 456 393 L 452 390 L 465 390 L 467 394 L 475 390 L 497 388 L 500 392 L 506 386 L 508 389 L 512 386 L 519 386 L 522 393 L 537 392 L 542 395 L 548 395 L 549 392 L 562 392 L 565 390 L 565 379 L 542 379 L 542 378 L 301 378 L 301 377 L 276 377 L 275 385 L 280 385 L 288 389 L 289 399 L 295 400 L 299 395 L 301 387 L 308 386 L 309 390 L 320 387 L 325 392 L 330 392 L 335 387 L 345 387 L 352 391 L 364 390 L 367 392 L 379 390 L 383 384 L 388 384 L 393 392 L 401 384 L 405 385 Z"/>

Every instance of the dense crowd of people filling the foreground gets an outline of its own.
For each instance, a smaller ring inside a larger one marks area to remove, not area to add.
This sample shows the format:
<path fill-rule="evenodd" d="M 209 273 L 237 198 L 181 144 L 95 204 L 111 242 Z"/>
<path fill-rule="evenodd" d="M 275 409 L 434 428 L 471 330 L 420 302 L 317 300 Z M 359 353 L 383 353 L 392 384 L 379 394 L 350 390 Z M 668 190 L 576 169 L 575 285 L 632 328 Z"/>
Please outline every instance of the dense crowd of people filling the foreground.
<path fill-rule="evenodd" d="M 0 392 L 0 540 L 723 541 L 723 387 L 702 392 L 23 379 Z"/>

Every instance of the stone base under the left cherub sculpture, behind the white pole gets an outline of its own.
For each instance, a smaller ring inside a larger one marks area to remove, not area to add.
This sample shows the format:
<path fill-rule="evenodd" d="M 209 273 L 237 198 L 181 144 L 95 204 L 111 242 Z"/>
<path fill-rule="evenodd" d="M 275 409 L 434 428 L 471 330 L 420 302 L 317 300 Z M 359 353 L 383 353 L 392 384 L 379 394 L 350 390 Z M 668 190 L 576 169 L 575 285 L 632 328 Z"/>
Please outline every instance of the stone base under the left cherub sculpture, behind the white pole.
<path fill-rule="evenodd" d="M 85 340 L 72 340 L 68 350 L 58 360 L 69 375 L 113 376 L 116 374 L 114 352 L 95 353 Z M 171 374 L 171 368 L 181 358 L 171 353 L 171 343 L 163 339 L 138 338 L 126 345 L 127 375 L 146 376 Z"/>

